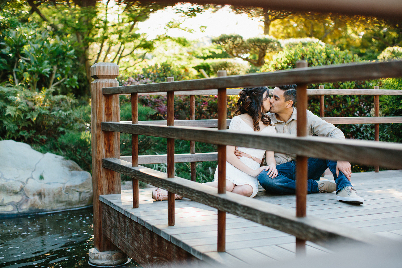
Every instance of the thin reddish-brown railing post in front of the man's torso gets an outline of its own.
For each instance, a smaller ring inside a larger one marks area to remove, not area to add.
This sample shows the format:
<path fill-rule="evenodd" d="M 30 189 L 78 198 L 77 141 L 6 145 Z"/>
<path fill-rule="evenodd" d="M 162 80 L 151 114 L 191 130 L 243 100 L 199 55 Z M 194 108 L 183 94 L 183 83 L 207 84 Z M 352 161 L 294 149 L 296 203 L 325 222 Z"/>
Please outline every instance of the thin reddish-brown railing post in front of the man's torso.
<path fill-rule="evenodd" d="M 296 68 L 307 67 L 306 61 L 298 61 Z M 297 85 L 297 136 L 307 136 L 307 84 Z M 308 157 L 296 156 L 296 216 L 306 216 L 307 161 Z M 296 254 L 306 254 L 306 241 L 296 237 Z"/>

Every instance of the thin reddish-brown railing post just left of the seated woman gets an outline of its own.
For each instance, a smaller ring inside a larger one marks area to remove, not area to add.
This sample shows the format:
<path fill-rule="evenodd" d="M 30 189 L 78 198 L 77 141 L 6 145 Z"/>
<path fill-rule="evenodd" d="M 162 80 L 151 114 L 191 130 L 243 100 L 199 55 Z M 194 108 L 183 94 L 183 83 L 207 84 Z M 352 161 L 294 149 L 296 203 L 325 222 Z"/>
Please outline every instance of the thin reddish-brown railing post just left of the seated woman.
<path fill-rule="evenodd" d="M 226 76 L 226 71 L 218 71 Z M 226 88 L 218 89 L 218 130 L 226 130 Z M 226 193 L 226 145 L 218 145 L 218 194 Z M 226 251 L 226 212 L 218 210 L 217 251 Z"/>

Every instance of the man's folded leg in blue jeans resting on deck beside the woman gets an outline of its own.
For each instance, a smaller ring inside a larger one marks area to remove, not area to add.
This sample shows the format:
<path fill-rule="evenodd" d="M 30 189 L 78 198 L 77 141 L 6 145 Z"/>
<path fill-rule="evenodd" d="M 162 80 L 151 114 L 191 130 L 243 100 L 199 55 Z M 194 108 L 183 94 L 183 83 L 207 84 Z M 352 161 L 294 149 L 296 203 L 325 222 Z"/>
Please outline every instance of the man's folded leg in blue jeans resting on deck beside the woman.
<path fill-rule="evenodd" d="M 296 189 L 296 162 L 289 161 L 277 165 L 278 175 L 276 178 L 269 177 L 267 171 L 258 176 L 258 182 L 269 193 L 272 194 L 294 194 Z M 325 167 L 326 169 L 326 167 Z M 324 169 L 324 170 L 325 170 Z M 324 172 L 324 171 L 322 171 Z M 321 172 L 321 174 L 322 174 Z M 318 193 L 318 183 L 314 179 L 307 180 L 307 193 Z"/>

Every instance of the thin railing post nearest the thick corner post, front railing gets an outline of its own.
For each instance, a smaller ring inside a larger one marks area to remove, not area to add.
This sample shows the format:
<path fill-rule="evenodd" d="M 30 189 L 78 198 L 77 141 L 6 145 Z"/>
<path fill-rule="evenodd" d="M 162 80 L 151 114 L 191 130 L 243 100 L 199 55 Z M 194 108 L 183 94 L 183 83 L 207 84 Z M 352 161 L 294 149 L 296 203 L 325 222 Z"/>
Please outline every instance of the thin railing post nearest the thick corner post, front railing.
<path fill-rule="evenodd" d="M 131 82 L 137 85 L 138 82 Z M 131 124 L 138 124 L 138 93 L 131 93 Z M 138 134 L 131 134 L 131 155 L 133 167 L 138 167 Z M 133 208 L 139 207 L 138 180 L 133 179 Z"/>

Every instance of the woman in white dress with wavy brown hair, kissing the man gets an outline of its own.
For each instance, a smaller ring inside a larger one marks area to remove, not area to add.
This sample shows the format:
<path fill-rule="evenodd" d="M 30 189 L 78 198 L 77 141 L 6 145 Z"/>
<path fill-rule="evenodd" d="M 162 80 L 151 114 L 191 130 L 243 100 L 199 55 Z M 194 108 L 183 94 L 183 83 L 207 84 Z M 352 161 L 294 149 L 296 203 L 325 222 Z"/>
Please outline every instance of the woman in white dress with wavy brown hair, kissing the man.
<path fill-rule="evenodd" d="M 240 91 L 236 103 L 234 118 L 230 122 L 230 130 L 258 131 L 261 133 L 275 133 L 270 118 L 265 114 L 269 111 L 269 90 L 267 87 L 246 88 Z M 269 177 L 277 176 L 274 152 L 262 149 L 239 147 L 245 156 L 238 159 L 234 155 L 235 146 L 226 146 L 226 190 L 254 197 L 258 192 L 258 175 L 262 171 L 269 171 Z M 260 167 L 264 153 L 266 153 L 267 166 Z M 218 167 L 216 167 L 214 181 L 204 184 L 218 187 Z M 155 200 L 166 200 L 167 191 L 156 188 L 152 193 Z M 175 195 L 175 198 L 181 196 Z"/>

